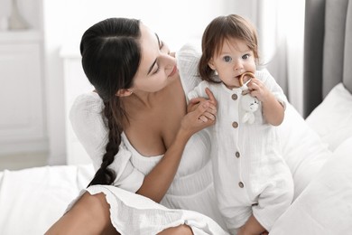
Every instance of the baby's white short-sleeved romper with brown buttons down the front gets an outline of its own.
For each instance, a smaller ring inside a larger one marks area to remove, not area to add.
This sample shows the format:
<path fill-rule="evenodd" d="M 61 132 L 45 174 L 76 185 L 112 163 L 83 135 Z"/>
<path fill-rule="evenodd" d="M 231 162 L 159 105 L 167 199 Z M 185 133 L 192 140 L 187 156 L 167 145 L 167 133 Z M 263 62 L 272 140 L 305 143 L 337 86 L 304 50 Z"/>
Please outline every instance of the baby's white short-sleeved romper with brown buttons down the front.
<path fill-rule="evenodd" d="M 283 89 L 268 71 L 256 71 L 255 78 L 262 80 L 285 107 Z M 227 229 L 236 234 L 253 213 L 266 230 L 271 230 L 293 197 L 292 174 L 280 153 L 276 127 L 265 123 L 261 102 L 253 124 L 241 121 L 244 110 L 240 108 L 239 88 L 202 81 L 188 98 L 205 97 L 206 87 L 218 100 L 217 122 L 211 127 L 211 155 L 218 207 Z"/>

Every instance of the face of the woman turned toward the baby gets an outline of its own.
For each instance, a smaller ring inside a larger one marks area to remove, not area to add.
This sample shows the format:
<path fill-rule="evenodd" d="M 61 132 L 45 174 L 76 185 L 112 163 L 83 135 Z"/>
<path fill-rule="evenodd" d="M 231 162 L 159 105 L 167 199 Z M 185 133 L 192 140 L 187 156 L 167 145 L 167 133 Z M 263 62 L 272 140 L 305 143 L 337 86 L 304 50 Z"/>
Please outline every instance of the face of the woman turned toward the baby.
<path fill-rule="evenodd" d="M 134 93 L 156 92 L 179 75 L 176 60 L 171 56 L 169 47 L 144 24 L 141 24 L 141 33 L 142 60 L 131 89 Z"/>

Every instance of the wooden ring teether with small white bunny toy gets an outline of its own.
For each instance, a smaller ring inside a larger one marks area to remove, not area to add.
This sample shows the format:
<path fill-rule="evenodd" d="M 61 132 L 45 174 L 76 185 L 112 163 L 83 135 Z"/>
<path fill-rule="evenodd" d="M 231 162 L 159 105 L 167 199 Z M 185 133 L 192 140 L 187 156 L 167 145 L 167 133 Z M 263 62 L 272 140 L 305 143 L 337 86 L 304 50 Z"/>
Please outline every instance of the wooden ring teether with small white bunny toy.
<path fill-rule="evenodd" d="M 255 122 L 255 111 L 259 108 L 259 100 L 249 94 L 247 83 L 251 79 L 244 83 L 243 80 L 245 76 L 255 78 L 255 74 L 252 72 L 245 72 L 239 78 L 240 89 L 242 89 L 241 107 L 244 110 L 241 121 L 242 123 L 248 122 L 248 124 L 253 124 Z"/>

